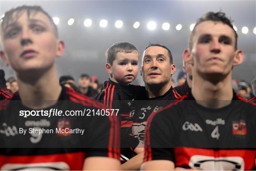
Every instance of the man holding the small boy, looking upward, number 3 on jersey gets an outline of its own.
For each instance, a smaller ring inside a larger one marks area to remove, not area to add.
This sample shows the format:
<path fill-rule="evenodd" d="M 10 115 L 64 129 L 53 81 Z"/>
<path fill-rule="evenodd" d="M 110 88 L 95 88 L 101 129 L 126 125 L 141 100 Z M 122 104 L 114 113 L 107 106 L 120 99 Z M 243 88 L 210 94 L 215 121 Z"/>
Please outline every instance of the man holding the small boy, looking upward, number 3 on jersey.
<path fill-rule="evenodd" d="M 152 112 L 165 107 L 179 97 L 172 87 L 176 68 L 171 51 L 160 44 L 149 44 L 143 53 L 141 74 L 147 97 L 137 103 L 132 132 L 144 144 L 146 120 Z"/>

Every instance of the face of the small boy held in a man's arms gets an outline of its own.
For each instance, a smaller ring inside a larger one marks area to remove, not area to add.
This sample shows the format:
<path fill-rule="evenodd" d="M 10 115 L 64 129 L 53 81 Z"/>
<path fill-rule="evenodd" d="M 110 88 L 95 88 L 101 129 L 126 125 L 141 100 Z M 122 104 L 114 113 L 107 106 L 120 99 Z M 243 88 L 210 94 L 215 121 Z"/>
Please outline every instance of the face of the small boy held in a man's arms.
<path fill-rule="evenodd" d="M 138 53 L 117 52 L 111 66 L 113 79 L 119 84 L 128 85 L 136 79 L 138 74 Z"/>

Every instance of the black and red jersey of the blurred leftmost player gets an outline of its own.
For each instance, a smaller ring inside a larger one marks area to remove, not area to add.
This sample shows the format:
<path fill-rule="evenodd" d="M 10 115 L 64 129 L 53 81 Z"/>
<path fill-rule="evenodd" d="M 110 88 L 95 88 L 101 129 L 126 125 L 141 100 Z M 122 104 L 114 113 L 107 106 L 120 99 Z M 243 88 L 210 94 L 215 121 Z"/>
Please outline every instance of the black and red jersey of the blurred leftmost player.
<path fill-rule="evenodd" d="M 53 110 L 63 112 L 49 117 Z M 42 110 L 27 108 L 18 94 L 0 102 L 0 170 L 82 170 L 87 157 L 119 160 L 118 118 L 97 115 L 98 110 L 106 108 L 65 87 L 55 105 Z"/>

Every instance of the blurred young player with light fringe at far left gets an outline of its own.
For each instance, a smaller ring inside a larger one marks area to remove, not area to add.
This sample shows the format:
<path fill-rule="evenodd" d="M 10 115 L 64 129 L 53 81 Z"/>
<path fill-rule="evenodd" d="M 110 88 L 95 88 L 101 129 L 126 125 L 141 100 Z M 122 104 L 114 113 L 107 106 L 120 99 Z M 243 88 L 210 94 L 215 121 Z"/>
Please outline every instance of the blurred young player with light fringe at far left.
<path fill-rule="evenodd" d="M 0 170 L 119 170 L 117 117 L 88 115 L 104 107 L 59 85 L 55 57 L 64 43 L 52 18 L 21 6 L 5 13 L 1 31 L 1 58 L 15 70 L 19 91 L 0 103 Z M 87 116 L 67 113 L 85 109 Z"/>

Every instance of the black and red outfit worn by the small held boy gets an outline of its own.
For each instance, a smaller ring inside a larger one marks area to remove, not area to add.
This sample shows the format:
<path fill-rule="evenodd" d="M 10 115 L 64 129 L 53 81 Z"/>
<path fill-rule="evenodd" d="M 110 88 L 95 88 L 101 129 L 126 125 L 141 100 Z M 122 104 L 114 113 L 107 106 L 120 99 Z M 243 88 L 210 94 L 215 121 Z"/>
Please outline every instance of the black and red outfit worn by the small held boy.
<path fill-rule="evenodd" d="M 101 92 L 96 96 L 96 100 L 102 102 L 106 107 L 119 109 L 122 162 L 127 161 L 133 156 L 133 152 L 129 149 L 127 150 L 127 148 L 135 148 L 139 143 L 138 139 L 132 135 L 131 126 L 135 102 L 145 94 L 146 89 L 143 86 L 121 85 L 109 79 L 104 82 Z M 125 158 L 127 159 L 125 160 Z"/>

